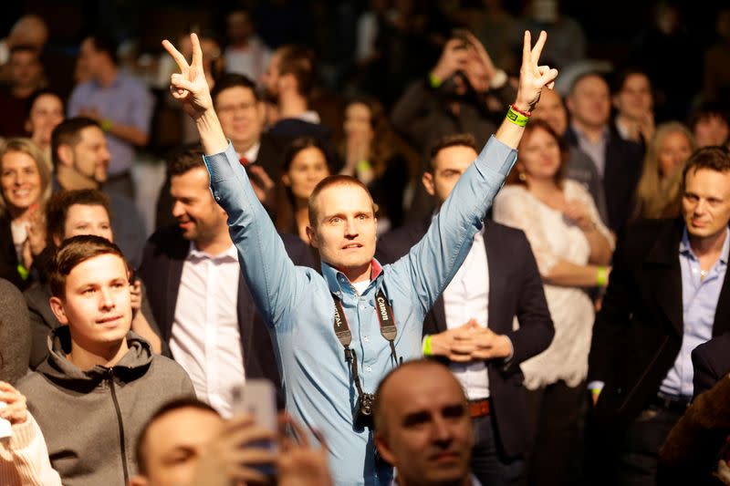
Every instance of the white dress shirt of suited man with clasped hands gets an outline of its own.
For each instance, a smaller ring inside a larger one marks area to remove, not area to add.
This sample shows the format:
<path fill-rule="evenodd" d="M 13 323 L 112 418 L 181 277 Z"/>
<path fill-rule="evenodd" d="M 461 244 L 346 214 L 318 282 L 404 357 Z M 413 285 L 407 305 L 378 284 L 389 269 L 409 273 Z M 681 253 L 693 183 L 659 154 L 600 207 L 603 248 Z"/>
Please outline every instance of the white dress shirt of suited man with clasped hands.
<path fill-rule="evenodd" d="M 446 327 L 462 326 L 474 319 L 479 326 L 487 326 L 489 316 L 489 265 L 486 262 L 484 228 L 474 235 L 474 242 L 466 260 L 454 279 L 443 291 L 443 310 Z M 466 398 L 489 398 L 489 377 L 484 361 L 451 363 L 454 375 L 462 384 Z"/>

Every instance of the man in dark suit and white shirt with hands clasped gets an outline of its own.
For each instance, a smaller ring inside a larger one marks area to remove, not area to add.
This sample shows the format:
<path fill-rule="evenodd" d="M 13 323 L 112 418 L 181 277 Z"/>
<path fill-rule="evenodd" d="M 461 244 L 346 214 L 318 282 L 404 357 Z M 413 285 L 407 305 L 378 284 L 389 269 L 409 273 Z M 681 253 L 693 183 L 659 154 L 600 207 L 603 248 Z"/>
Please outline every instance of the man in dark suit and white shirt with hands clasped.
<path fill-rule="evenodd" d="M 438 140 L 423 174 L 426 191 L 443 204 L 476 155 L 471 135 Z M 376 256 L 383 264 L 397 260 L 430 223 L 431 217 L 386 234 Z M 469 398 L 476 438 L 472 469 L 483 484 L 515 484 L 520 477 L 529 434 L 519 365 L 545 350 L 553 334 L 525 233 L 485 221 L 423 322 L 424 354 L 449 362 Z"/>

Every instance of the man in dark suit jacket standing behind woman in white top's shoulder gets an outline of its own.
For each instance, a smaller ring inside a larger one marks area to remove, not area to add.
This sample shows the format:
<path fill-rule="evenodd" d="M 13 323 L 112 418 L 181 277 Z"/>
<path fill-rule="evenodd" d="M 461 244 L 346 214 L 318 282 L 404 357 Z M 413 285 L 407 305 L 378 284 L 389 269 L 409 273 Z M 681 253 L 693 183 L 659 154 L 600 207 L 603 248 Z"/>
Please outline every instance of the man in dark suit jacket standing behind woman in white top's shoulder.
<path fill-rule="evenodd" d="M 617 233 L 631 215 L 634 192 L 641 176 L 641 145 L 623 140 L 610 127 L 609 84 L 597 73 L 577 78 L 566 98 L 570 126 L 568 145 L 589 154 L 596 164 L 609 212 L 609 227 Z"/>

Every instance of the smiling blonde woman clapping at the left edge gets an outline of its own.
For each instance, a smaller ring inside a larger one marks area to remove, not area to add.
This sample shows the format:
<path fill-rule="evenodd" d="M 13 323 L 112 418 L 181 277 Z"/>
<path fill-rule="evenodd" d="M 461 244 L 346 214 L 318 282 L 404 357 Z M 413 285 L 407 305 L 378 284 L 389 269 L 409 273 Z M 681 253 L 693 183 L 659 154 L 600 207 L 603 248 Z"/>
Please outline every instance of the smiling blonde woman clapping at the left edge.
<path fill-rule="evenodd" d="M 23 289 L 35 255 L 46 247 L 44 205 L 51 172 L 43 151 L 30 139 L 0 146 L 0 277 Z"/>

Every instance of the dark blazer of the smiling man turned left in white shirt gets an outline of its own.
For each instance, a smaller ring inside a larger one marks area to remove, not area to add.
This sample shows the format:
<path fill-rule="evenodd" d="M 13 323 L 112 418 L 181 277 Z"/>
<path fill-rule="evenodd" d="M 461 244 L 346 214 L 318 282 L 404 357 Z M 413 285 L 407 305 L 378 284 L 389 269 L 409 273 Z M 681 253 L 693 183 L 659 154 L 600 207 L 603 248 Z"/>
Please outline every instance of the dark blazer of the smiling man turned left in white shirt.
<path fill-rule="evenodd" d="M 297 236 L 283 234 L 282 239 L 294 264 L 313 266 L 309 246 Z M 183 264 L 190 250 L 190 241 L 183 238 L 177 226 L 166 226 L 153 233 L 144 248 L 140 277 L 147 284 L 152 313 L 160 326 L 162 340 L 170 343 L 175 306 L 183 275 Z M 271 338 L 254 299 L 248 291 L 243 274 L 238 277 L 236 314 L 241 336 L 246 378 L 265 377 L 277 388 L 281 386 Z"/>

